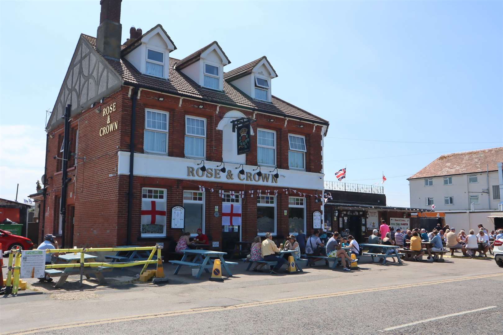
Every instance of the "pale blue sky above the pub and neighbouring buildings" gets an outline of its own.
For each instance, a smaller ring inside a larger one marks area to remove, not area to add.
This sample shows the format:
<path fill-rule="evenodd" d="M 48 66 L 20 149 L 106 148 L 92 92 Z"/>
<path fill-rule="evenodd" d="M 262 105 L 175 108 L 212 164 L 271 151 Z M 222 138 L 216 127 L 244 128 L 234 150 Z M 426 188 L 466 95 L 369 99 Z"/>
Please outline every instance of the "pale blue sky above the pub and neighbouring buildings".
<path fill-rule="evenodd" d="M 0 1 L 0 197 L 35 192 L 46 110 L 99 16 L 98 0 Z M 124 0 L 121 23 L 123 41 L 160 23 L 175 58 L 217 40 L 225 71 L 266 55 L 273 94 L 330 122 L 325 180 L 384 171 L 388 205 L 408 206 L 406 178 L 439 155 L 503 146 L 502 18 L 501 1 Z"/>

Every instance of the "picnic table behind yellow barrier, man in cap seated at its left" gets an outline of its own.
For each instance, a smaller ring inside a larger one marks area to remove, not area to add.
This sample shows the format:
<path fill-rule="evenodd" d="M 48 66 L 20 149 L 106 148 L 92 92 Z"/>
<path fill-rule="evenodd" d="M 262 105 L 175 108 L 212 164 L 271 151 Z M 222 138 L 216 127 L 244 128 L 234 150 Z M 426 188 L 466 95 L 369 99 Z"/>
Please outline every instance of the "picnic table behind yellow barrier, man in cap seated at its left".
<path fill-rule="evenodd" d="M 98 258 L 98 256 L 84 254 L 85 263 L 91 263 L 96 258 Z M 80 253 L 75 254 L 68 253 L 65 255 L 58 255 L 56 257 L 56 262 L 54 264 L 75 264 L 75 263 L 80 263 Z M 104 267 L 96 267 L 96 268 L 85 267 L 83 268 L 83 274 L 86 276 L 87 279 L 90 279 L 91 275 L 95 275 L 96 279 L 98 279 L 98 282 L 103 285 L 107 281 L 105 280 L 105 277 L 103 277 L 102 271 L 106 269 L 107 268 Z M 55 287 L 60 288 L 63 286 L 68 276 L 80 274 L 80 268 L 64 268 L 64 270 L 47 269 L 45 270 L 45 273 L 48 274 L 50 277 L 59 277 L 59 280 L 56 283 Z"/>

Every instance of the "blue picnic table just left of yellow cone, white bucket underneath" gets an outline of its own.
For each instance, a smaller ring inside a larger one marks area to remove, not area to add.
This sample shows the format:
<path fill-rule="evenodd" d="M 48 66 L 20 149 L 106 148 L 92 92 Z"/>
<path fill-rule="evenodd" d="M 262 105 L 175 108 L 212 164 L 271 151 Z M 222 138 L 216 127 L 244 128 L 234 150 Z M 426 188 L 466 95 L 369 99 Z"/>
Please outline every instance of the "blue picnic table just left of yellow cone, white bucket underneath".
<path fill-rule="evenodd" d="M 220 252 L 220 251 L 211 251 L 211 250 L 198 250 L 198 249 L 184 249 L 182 250 L 184 253 L 184 256 L 182 257 L 182 260 L 180 261 L 169 261 L 170 263 L 177 264 L 177 268 L 175 269 L 174 274 L 178 274 L 182 266 L 189 266 L 189 267 L 194 267 L 194 268 L 199 268 L 199 272 L 196 275 L 196 278 L 199 279 L 201 275 L 203 274 L 203 271 L 206 271 L 209 273 L 208 269 L 213 268 L 213 263 L 214 259 L 218 258 L 220 260 L 220 263 L 222 265 L 222 268 L 225 269 L 227 272 L 227 275 L 229 277 L 232 277 L 232 272 L 229 270 L 229 265 L 237 265 L 236 262 L 226 262 L 223 259 L 223 256 L 226 255 L 227 253 Z M 189 258 L 193 257 L 192 260 Z"/>

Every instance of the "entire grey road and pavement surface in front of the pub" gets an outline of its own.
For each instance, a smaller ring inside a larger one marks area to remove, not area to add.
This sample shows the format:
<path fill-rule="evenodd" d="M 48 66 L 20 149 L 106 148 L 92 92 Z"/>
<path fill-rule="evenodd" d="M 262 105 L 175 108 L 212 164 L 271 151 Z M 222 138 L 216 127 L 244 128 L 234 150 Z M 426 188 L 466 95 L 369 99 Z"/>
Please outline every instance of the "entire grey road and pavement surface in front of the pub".
<path fill-rule="evenodd" d="M 384 266 L 369 261 L 363 258 L 351 272 L 332 271 L 320 262 L 292 275 L 246 272 L 240 263 L 224 282 L 208 281 L 208 274 L 197 280 L 189 268 L 175 276 L 175 266 L 165 264 L 170 279 L 165 285 L 131 281 L 129 274 L 139 267 L 119 277 L 105 274 L 116 280 L 107 286 L 85 281 L 84 288 L 66 283 L 54 289 L 54 284 L 32 283 L 18 296 L 0 298 L 0 331 L 503 333 L 503 300 L 498 298 L 503 268 L 493 259 L 446 257 L 443 263 Z"/>

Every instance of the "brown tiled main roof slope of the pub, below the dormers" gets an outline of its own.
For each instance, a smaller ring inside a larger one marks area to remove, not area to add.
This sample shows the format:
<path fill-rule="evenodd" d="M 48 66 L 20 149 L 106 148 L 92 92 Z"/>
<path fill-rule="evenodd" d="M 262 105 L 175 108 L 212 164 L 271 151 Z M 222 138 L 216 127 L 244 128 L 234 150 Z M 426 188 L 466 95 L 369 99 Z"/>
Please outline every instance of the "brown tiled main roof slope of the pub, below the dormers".
<path fill-rule="evenodd" d="M 82 37 L 96 49 L 95 37 L 85 34 L 82 34 Z M 264 113 L 328 125 L 328 121 L 318 118 L 308 111 L 274 95 L 271 102 L 261 102 L 252 99 L 225 80 L 223 81 L 223 92 L 201 87 L 184 73 L 174 69 L 174 65 L 179 61 L 175 58 L 170 58 L 169 80 L 142 74 L 124 58 L 120 60 L 106 59 L 106 61 L 117 71 L 126 84 L 137 84 L 161 92 L 193 97 L 238 108 L 255 109 Z"/>

